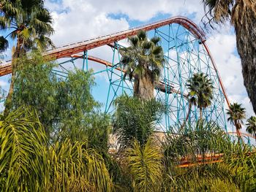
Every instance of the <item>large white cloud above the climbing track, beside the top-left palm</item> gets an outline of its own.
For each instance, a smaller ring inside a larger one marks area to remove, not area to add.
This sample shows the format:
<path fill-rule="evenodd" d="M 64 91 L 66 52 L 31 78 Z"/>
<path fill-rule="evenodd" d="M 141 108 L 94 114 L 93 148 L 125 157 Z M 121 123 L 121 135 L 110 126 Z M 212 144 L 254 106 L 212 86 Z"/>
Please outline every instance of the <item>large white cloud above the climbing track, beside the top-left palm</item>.
<path fill-rule="evenodd" d="M 52 39 L 57 46 L 129 28 L 124 18 L 110 18 L 106 12 L 99 12 L 97 7 L 85 1 L 64 0 L 59 6 L 47 5 L 52 10 L 56 31 Z"/>

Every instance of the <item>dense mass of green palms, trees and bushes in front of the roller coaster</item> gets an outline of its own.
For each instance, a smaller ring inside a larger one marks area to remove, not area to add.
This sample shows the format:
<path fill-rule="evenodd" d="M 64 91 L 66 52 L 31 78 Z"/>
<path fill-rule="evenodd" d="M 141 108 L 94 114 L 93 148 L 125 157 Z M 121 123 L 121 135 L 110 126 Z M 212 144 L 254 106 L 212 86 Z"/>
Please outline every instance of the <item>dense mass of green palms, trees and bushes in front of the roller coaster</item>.
<path fill-rule="evenodd" d="M 170 128 L 165 139 L 155 134 L 165 112 L 154 99 L 165 63 L 159 38 L 148 40 L 140 31 L 129 38 L 130 47 L 121 48 L 134 96 L 119 96 L 111 116 L 91 95 L 90 71 L 59 77 L 56 64 L 38 51 L 52 45 L 52 19 L 43 1 L 0 2 L 0 27 L 15 25 L 11 35 L 17 40 L 0 116 L 0 191 L 256 191 L 255 151 L 203 119 L 214 88 L 206 74 L 187 81 L 189 109 L 179 131 Z M 214 1 L 205 2 L 216 9 Z M 0 53 L 7 47 L 0 37 Z M 198 122 L 189 120 L 192 106 L 200 110 Z M 227 115 L 242 141 L 244 108 L 231 104 Z M 251 117 L 246 123 L 254 135 L 255 122 Z M 110 151 L 110 133 L 117 136 L 116 151 Z"/>

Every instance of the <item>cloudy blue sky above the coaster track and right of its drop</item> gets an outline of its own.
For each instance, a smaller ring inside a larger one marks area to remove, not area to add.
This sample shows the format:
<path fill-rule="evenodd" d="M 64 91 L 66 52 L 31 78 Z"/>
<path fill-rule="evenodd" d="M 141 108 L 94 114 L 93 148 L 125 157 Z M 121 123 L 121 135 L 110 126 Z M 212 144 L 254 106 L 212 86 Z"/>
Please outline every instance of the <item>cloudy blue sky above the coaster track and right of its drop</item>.
<path fill-rule="evenodd" d="M 200 0 L 46 0 L 53 15 L 56 46 L 111 34 L 153 21 L 182 15 L 201 25 L 204 7 Z M 236 36 L 228 23 L 206 32 L 206 43 L 216 61 L 228 98 L 254 115 L 244 88 L 241 60 L 236 52 Z M 0 79 L 7 86 L 7 80 Z"/>

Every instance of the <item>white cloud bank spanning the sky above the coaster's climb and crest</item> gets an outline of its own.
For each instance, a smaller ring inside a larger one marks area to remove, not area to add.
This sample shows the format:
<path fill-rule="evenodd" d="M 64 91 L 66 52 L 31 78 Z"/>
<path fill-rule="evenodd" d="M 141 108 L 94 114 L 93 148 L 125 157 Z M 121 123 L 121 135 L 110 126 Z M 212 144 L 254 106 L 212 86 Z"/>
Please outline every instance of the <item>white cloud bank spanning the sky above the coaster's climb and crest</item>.
<path fill-rule="evenodd" d="M 130 20 L 147 21 L 161 14 L 192 15 L 199 23 L 203 16 L 203 5 L 197 0 L 48 0 L 45 5 L 55 20 L 52 39 L 56 45 L 128 29 Z M 115 15 L 126 15 L 129 20 Z"/>

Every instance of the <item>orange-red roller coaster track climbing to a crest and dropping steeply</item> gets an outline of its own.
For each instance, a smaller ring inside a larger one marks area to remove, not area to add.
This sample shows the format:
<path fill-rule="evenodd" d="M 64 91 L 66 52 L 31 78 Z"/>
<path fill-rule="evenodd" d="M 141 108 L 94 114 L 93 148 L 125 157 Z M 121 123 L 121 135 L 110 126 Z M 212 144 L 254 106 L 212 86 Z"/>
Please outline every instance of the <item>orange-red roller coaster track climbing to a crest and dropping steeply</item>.
<path fill-rule="evenodd" d="M 230 102 L 227 99 L 227 94 L 225 92 L 225 88 L 222 83 L 222 80 L 219 76 L 219 72 L 217 71 L 217 67 L 214 63 L 214 59 L 212 58 L 211 53 L 209 52 L 208 47 L 205 43 L 206 36 L 203 33 L 203 31 L 201 31 L 200 28 L 195 23 L 193 23 L 191 20 L 189 20 L 188 18 L 178 16 L 178 17 L 168 18 L 165 20 L 160 20 L 160 21 L 157 21 L 154 23 L 147 24 L 145 26 L 139 26 L 136 28 L 128 29 L 126 31 L 120 31 L 115 34 L 108 34 L 105 36 L 96 37 L 94 39 L 88 39 L 86 41 L 75 42 L 75 43 L 71 43 L 69 45 L 56 47 L 55 49 L 48 50 L 46 53 L 44 53 L 44 55 L 48 56 L 48 58 L 52 58 L 54 60 L 57 58 L 72 57 L 73 55 L 75 55 L 77 53 L 81 53 L 83 51 L 90 50 L 95 47 L 100 47 L 102 45 L 110 45 L 111 47 L 113 47 L 114 42 L 117 42 L 121 39 L 126 39 L 127 37 L 130 37 L 132 35 L 135 35 L 140 30 L 150 31 L 152 29 L 170 25 L 172 23 L 177 23 L 181 26 L 184 26 L 184 28 L 187 28 L 187 30 L 189 30 L 195 37 L 197 37 L 197 39 L 200 39 L 200 42 L 203 43 L 204 47 L 206 47 L 206 51 L 210 55 L 211 61 L 214 65 L 214 69 L 217 72 L 219 82 L 222 87 L 222 91 L 225 95 L 227 104 L 228 104 L 228 106 L 230 106 Z M 91 61 L 96 61 L 99 64 L 105 64 L 106 66 L 112 66 L 112 64 L 110 64 L 108 61 L 102 61 L 102 59 L 99 59 L 99 58 L 94 58 L 94 57 L 90 56 L 88 59 Z M 0 76 L 3 76 L 5 74 L 10 74 L 11 72 L 12 72 L 11 61 L 7 61 L 7 64 L 0 66 Z M 163 82 L 157 82 L 156 88 L 158 88 L 160 91 L 165 92 L 165 84 Z M 168 90 L 166 92 L 167 93 L 179 93 L 178 91 L 176 91 L 170 87 L 168 88 Z M 187 96 L 185 96 L 185 97 L 187 97 Z"/>

